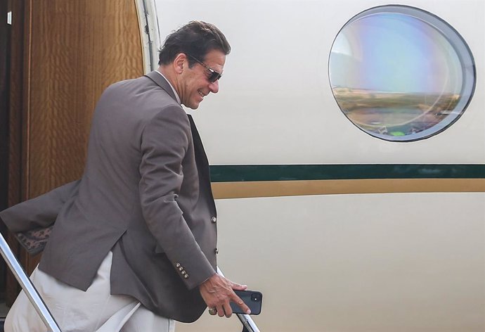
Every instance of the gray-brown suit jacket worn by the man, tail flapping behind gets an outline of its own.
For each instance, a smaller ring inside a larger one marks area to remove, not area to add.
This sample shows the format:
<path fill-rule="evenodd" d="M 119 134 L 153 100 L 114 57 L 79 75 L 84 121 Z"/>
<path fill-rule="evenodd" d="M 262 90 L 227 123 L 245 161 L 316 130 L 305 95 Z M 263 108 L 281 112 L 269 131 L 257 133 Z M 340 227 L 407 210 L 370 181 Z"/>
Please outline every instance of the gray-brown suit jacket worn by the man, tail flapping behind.
<path fill-rule="evenodd" d="M 0 213 L 53 231 L 39 269 L 86 290 L 113 253 L 111 293 L 195 321 L 216 269 L 216 209 L 197 129 L 157 72 L 112 84 L 93 115 L 82 179 Z"/>

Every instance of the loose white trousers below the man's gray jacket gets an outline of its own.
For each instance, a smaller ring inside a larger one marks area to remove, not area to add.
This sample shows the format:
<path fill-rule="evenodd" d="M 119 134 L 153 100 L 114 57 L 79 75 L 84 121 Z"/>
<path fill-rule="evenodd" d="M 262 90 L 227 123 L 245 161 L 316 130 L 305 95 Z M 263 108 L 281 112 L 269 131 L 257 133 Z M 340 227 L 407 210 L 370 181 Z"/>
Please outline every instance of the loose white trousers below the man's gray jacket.
<path fill-rule="evenodd" d="M 84 292 L 34 270 L 30 279 L 62 332 L 174 332 L 175 321 L 150 312 L 128 295 L 110 294 L 112 253 L 103 260 L 93 283 Z M 6 332 L 47 332 L 22 292 L 5 320 Z"/>

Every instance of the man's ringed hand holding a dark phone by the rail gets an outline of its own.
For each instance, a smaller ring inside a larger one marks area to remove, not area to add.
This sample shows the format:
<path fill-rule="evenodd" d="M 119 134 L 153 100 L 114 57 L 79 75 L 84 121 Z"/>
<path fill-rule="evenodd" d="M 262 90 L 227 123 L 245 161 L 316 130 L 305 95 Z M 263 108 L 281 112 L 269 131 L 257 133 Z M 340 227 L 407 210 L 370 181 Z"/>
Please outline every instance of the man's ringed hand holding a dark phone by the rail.
<path fill-rule="evenodd" d="M 228 318 L 233 314 L 229 302 L 237 304 L 246 314 L 251 313 L 250 308 L 233 291 L 233 289 L 246 290 L 246 288 L 247 286 L 233 283 L 224 276 L 219 276 L 219 274 L 214 274 L 199 286 L 200 295 L 202 295 L 207 307 L 209 309 L 215 308 L 219 317 L 226 316 Z"/>

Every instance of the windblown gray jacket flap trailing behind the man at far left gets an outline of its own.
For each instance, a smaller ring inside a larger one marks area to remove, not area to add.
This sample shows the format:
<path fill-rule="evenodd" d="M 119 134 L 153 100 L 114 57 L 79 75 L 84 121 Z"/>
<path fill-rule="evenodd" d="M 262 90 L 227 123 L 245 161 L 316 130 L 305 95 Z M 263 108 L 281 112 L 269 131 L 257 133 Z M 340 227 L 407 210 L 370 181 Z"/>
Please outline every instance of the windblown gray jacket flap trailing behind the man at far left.
<path fill-rule="evenodd" d="M 0 212 L 0 218 L 14 233 L 51 226 L 64 203 L 77 193 L 79 181 L 60 186 L 41 196 L 25 200 Z"/>

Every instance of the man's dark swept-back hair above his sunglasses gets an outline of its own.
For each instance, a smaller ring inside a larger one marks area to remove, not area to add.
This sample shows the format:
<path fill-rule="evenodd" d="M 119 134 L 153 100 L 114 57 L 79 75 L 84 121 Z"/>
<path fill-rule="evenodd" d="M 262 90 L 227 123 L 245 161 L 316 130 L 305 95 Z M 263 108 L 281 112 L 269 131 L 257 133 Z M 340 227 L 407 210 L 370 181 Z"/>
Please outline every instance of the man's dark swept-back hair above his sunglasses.
<path fill-rule="evenodd" d="M 185 53 L 204 61 L 209 51 L 221 51 L 225 55 L 231 52 L 231 46 L 224 34 L 215 25 L 202 21 L 191 21 L 167 36 L 160 49 L 159 65 L 172 63 L 177 54 Z M 195 63 L 188 57 L 188 65 Z"/>

